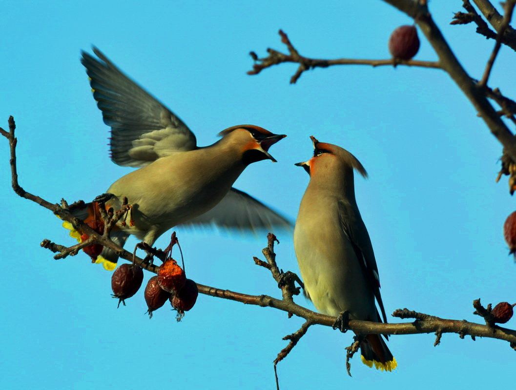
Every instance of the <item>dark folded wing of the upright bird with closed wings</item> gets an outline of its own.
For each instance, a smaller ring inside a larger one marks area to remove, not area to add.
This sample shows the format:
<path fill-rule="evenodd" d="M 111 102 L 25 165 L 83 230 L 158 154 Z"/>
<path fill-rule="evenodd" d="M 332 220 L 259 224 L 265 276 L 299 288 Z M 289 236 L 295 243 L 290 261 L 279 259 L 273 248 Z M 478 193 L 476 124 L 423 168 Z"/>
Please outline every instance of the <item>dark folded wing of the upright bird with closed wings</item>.
<path fill-rule="evenodd" d="M 369 281 L 370 288 L 373 290 L 378 306 L 382 312 L 383 321 L 387 322 L 382 297 L 380 295 L 380 276 L 376 265 L 373 244 L 369 238 L 369 233 L 365 227 L 360 212 L 347 202 L 338 202 L 338 212 L 341 219 L 341 227 L 347 238 L 353 245 L 357 259 L 360 261 L 366 279 Z M 378 316 L 380 318 L 380 316 Z"/>

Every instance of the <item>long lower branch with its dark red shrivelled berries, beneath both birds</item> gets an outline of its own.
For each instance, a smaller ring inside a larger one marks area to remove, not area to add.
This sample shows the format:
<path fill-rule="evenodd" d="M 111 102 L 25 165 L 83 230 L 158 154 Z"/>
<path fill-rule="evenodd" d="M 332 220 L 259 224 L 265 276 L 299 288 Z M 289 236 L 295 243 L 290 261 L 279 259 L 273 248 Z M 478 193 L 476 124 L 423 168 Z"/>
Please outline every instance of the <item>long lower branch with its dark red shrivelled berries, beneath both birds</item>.
<path fill-rule="evenodd" d="M 276 365 L 287 357 L 311 326 L 324 325 L 336 329 L 336 317 L 314 312 L 294 302 L 294 296 L 300 294 L 303 284 L 296 274 L 289 271 L 283 272 L 283 270 L 278 266 L 276 262 L 276 254 L 274 252 L 275 242 L 278 242 L 275 235 L 269 233 L 267 236 L 267 246 L 262 251 L 265 261 L 257 257 L 254 257 L 253 260 L 256 265 L 270 271 L 272 278 L 275 280 L 282 292 L 282 299 L 268 295 L 249 295 L 238 293 L 195 283 L 186 278 L 184 264 L 183 267 L 180 267 L 179 264 L 172 259 L 171 253 L 173 246 L 179 246 L 179 241 L 176 238 L 175 233 L 172 233 L 170 245 L 165 250 L 152 248 L 149 245 L 140 243 L 137 244 L 133 253 L 121 248 L 109 239 L 109 229 L 114 226 L 116 221 L 120 221 L 125 211 L 130 206 L 127 202 L 122 206 L 121 210 L 103 211 L 102 217 L 104 226 L 102 227 L 102 231 L 98 231 L 99 227 L 91 227 L 80 221 L 80 219 L 73 217 L 69 212 L 69 207 L 71 206 L 68 206 L 65 201 L 61 201 L 60 205 L 52 204 L 39 196 L 25 191 L 18 182 L 16 164 L 17 139 L 14 136 L 14 130 L 15 123 L 11 116 L 9 117 L 9 131 L 0 128 L 0 134 L 4 135 L 10 144 L 10 166 L 12 188 L 14 192 L 19 196 L 29 199 L 41 207 L 52 211 L 63 219 L 63 221 L 73 224 L 77 231 L 83 235 L 87 235 L 87 238 L 82 242 L 84 245 L 73 245 L 67 247 L 65 245 L 53 243 L 50 240 L 45 240 L 44 245 L 42 244 L 42 246 L 54 252 L 58 252 L 57 255 L 54 256 L 54 258 L 58 259 L 75 256 L 80 249 L 91 256 L 92 252 L 98 252 L 99 248 L 94 247 L 95 245 L 101 247 L 106 246 L 114 249 L 118 256 L 130 262 L 130 264 L 120 265 L 111 278 L 111 287 L 114 297 L 119 299 L 119 305 L 120 303 L 125 305 L 125 300 L 131 298 L 138 292 L 143 282 L 143 269 L 146 269 L 153 274 L 157 274 L 149 279 L 144 292 L 149 309 L 148 313 L 151 318 L 155 310 L 162 307 L 167 300 L 170 300 L 172 307 L 178 312 L 176 318 L 180 320 L 184 316 L 184 313 L 194 306 L 198 293 L 245 304 L 270 307 L 286 312 L 289 318 L 293 316 L 303 318 L 304 323 L 296 332 L 283 337 L 283 340 L 288 341 L 288 345 L 278 353 L 274 361 L 275 370 Z M 136 256 L 137 249 L 146 251 L 147 256 L 145 258 Z M 155 265 L 154 258 L 161 260 L 163 264 L 160 266 Z M 475 314 L 482 316 L 486 321 L 486 325 L 471 323 L 466 320 L 444 319 L 437 316 L 410 311 L 408 309 L 398 309 L 394 311 L 392 316 L 402 319 L 414 318 L 415 320 L 410 323 L 397 324 L 346 320 L 338 327 L 338 329 L 341 331 L 351 330 L 357 334 L 358 338 L 366 334 L 400 335 L 434 333 L 437 336 L 436 343 L 434 345 L 439 344 L 443 333 L 456 333 L 459 334 L 461 338 L 469 335 L 473 340 L 475 340 L 476 337 L 497 338 L 498 340 L 508 342 L 511 348 L 516 350 L 516 331 L 496 325 L 496 323 L 506 323 L 511 318 L 514 306 L 514 304 L 510 304 L 508 302 L 501 302 L 493 309 L 491 309 L 491 305 L 488 305 L 487 308 L 483 308 L 480 304 L 480 300 L 476 300 L 474 302 Z M 358 340 L 357 337 L 356 340 Z M 346 362 L 348 372 L 350 368 L 349 359 L 352 357 L 353 353 L 357 351 L 356 340 L 351 344 L 351 346 L 346 348 L 348 352 Z"/>

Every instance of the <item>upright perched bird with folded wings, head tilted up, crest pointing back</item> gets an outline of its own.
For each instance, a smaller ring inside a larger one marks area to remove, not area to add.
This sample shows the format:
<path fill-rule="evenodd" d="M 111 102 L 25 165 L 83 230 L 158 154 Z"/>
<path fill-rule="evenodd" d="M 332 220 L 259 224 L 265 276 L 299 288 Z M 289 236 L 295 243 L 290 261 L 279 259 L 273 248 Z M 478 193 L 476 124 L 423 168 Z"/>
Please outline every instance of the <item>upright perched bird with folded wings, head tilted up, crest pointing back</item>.
<path fill-rule="evenodd" d="M 310 175 L 294 229 L 305 294 L 321 313 L 381 322 L 376 298 L 386 322 L 375 254 L 354 194 L 353 169 L 367 173 L 347 150 L 310 138 L 314 157 L 296 164 Z M 396 368 L 380 335 L 367 335 L 360 349 L 369 367 Z"/>

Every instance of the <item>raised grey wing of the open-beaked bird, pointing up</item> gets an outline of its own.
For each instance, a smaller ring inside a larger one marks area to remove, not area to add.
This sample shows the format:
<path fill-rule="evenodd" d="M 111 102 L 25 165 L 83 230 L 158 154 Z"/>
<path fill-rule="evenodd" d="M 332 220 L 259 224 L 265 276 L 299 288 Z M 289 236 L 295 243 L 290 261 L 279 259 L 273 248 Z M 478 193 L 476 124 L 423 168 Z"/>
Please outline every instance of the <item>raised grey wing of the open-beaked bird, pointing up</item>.
<path fill-rule="evenodd" d="M 163 104 L 123 74 L 93 47 L 96 59 L 82 52 L 93 97 L 111 127 L 111 160 L 143 166 L 176 151 L 196 148 L 195 135 Z"/>

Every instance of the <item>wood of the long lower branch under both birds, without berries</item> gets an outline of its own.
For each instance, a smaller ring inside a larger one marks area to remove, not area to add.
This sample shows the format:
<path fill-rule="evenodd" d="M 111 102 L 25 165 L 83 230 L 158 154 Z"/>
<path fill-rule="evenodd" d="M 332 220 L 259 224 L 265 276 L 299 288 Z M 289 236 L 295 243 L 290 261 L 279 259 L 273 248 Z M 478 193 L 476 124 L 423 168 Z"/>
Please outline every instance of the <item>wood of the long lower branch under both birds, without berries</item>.
<path fill-rule="evenodd" d="M 73 217 L 70 214 L 68 209 L 66 208 L 68 205 L 65 201 L 62 202 L 62 208 L 59 205 L 53 205 L 46 200 L 30 194 L 24 190 L 21 190 L 21 187 L 18 184 L 18 176 L 16 174 L 16 158 L 15 158 L 15 147 L 16 147 L 16 139 L 14 138 L 14 120 L 12 117 L 9 118 L 9 132 L 0 128 L 0 133 L 4 135 L 9 140 L 11 145 L 11 172 L 12 172 L 12 187 L 14 191 L 29 200 L 36 202 L 38 205 L 45 207 L 55 214 L 59 215 L 65 221 L 75 224 L 80 231 L 88 234 L 90 237 L 88 240 L 91 240 L 91 243 L 99 243 L 103 246 L 107 246 L 117 251 L 117 254 L 130 262 L 134 262 L 139 266 L 149 270 L 150 272 L 156 274 L 159 269 L 158 266 L 152 264 L 145 259 L 141 259 L 134 255 L 134 253 L 128 252 L 123 248 L 116 245 L 112 242 L 108 236 L 99 235 L 93 229 L 91 229 L 88 225 L 84 224 L 78 218 Z M 17 191 L 18 190 L 18 191 Z M 127 205 L 126 205 L 127 206 Z M 106 213 L 107 218 L 111 218 L 109 221 L 106 221 L 106 224 L 109 224 L 110 221 L 113 221 L 112 218 L 115 218 L 113 215 L 122 215 L 118 212 L 113 212 L 112 210 L 108 210 Z M 104 228 L 104 231 L 108 231 L 107 227 Z M 283 272 L 276 263 L 276 255 L 274 253 L 274 242 L 276 240 L 276 236 L 270 234 L 267 236 L 268 244 L 267 247 L 264 248 L 263 253 L 266 257 L 267 263 L 258 260 L 257 263 L 259 265 L 264 265 L 265 268 L 271 270 L 271 274 L 274 279 L 278 282 L 278 286 L 283 292 L 283 299 L 273 298 L 268 295 L 248 295 L 238 292 L 233 292 L 230 290 L 218 289 L 216 287 L 211 287 L 203 284 L 197 284 L 199 293 L 209 295 L 216 298 L 229 299 L 241 303 L 252 304 L 260 307 L 270 307 L 277 310 L 284 311 L 289 314 L 289 316 L 296 315 L 298 317 L 304 318 L 305 322 L 301 326 L 299 330 L 294 332 L 291 335 L 285 336 L 284 340 L 289 340 L 289 344 L 280 351 L 276 360 L 275 360 L 275 369 L 277 363 L 279 363 L 282 359 L 284 359 L 289 352 L 295 347 L 295 345 L 299 342 L 300 338 L 308 331 L 308 328 L 312 325 L 324 325 L 333 327 L 336 317 L 328 316 L 325 314 L 316 313 L 312 310 L 304 308 L 296 304 L 293 300 L 293 295 L 299 294 L 299 287 L 294 286 L 294 282 L 300 282 L 297 275 L 291 272 Z M 90 241 L 88 241 L 90 243 Z M 65 252 L 65 251 L 73 251 L 77 252 L 80 248 L 86 246 L 86 241 L 72 247 L 64 247 L 59 244 L 51 243 L 49 240 L 45 240 L 42 243 L 42 246 L 48 248 L 52 251 Z M 148 248 L 148 246 L 141 246 L 142 248 L 148 250 L 152 255 L 160 256 L 162 255 L 162 251 L 155 250 L 153 248 Z M 70 253 L 72 254 L 72 253 Z M 256 262 L 256 258 L 255 262 Z M 480 302 L 474 302 L 475 308 L 477 312 L 481 313 L 481 309 L 479 309 Z M 489 307 L 488 307 L 489 309 Z M 489 310 L 488 310 L 489 311 Z M 398 309 L 393 314 L 394 317 L 398 318 L 415 318 L 415 321 L 412 323 L 400 323 L 400 324 L 390 324 L 390 323 L 374 323 L 370 321 L 360 321 L 360 320 L 349 320 L 346 324 L 346 327 L 358 335 L 364 334 L 421 334 L 421 333 L 435 333 L 437 335 L 436 344 L 440 341 L 441 335 L 443 333 L 457 333 L 460 337 L 464 337 L 464 335 L 472 336 L 473 340 L 475 337 L 490 337 L 497 338 L 498 340 L 507 341 L 510 343 L 510 346 L 516 349 L 516 331 L 501 328 L 498 326 L 490 325 L 481 325 L 476 323 L 471 323 L 466 320 L 454 320 L 454 319 L 444 319 L 437 316 L 431 316 L 428 314 L 418 313 L 414 311 L 409 311 L 408 309 Z M 484 318 L 486 318 L 484 316 Z M 357 350 L 356 345 L 352 344 L 348 348 L 347 354 L 347 363 L 349 363 L 349 359 Z M 349 370 L 349 365 L 347 365 Z"/>

